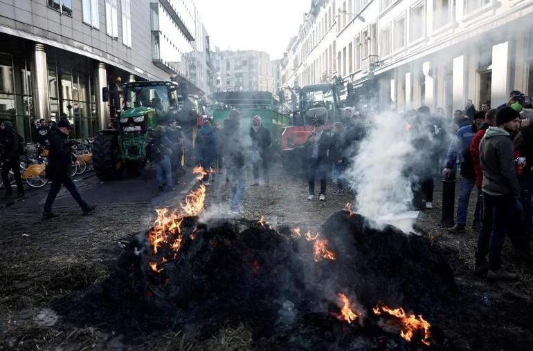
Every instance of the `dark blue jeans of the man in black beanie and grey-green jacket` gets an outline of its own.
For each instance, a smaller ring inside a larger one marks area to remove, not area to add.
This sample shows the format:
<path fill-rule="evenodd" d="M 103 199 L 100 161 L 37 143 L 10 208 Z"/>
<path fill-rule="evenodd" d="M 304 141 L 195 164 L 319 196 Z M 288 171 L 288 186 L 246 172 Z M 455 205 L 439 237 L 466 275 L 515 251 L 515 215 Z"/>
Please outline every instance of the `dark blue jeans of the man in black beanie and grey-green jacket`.
<path fill-rule="evenodd" d="M 505 236 L 511 231 L 520 231 L 522 222 L 523 209 L 518 200 L 512 196 L 483 193 L 483 222 L 476 248 L 476 265 L 484 264 L 488 254 L 489 269 L 500 269 Z"/>

